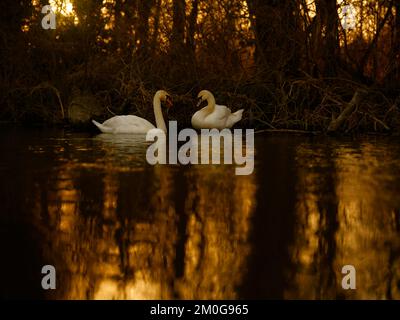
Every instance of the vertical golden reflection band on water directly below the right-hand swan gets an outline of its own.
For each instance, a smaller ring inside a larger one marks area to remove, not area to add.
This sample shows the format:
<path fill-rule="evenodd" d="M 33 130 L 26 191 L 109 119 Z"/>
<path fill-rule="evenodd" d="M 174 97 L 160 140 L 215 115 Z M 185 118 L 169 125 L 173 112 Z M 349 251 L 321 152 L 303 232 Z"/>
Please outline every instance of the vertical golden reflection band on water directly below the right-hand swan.
<path fill-rule="evenodd" d="M 255 186 L 250 177 L 234 177 L 234 169 L 203 167 L 187 175 L 188 239 L 184 299 L 235 299 L 249 254 L 249 218 Z"/>

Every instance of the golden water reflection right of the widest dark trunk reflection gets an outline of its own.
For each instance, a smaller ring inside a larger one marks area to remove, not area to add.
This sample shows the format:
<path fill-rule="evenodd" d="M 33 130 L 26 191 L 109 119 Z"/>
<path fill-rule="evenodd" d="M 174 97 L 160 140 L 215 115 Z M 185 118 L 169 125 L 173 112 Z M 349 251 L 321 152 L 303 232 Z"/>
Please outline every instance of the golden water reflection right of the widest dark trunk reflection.
<path fill-rule="evenodd" d="M 297 160 L 286 298 L 400 299 L 400 199 L 387 172 L 398 165 L 398 150 L 302 144 Z M 341 287 L 344 265 L 356 268 L 356 290 Z"/>

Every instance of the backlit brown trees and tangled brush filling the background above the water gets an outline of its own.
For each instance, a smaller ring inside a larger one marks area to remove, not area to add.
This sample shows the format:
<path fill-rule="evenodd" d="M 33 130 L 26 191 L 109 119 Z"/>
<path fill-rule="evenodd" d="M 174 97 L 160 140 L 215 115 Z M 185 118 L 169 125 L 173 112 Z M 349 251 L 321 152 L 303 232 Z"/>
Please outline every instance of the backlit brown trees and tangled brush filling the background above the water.
<path fill-rule="evenodd" d="M 164 88 L 170 119 L 188 126 L 207 88 L 246 109 L 242 126 L 326 130 L 362 89 L 340 129 L 399 130 L 396 1 L 348 1 L 358 3 L 354 30 L 335 0 L 73 2 L 72 16 L 43 30 L 42 3 L 5 1 L 2 14 L 19 18 L 1 22 L 1 119 L 63 122 L 77 95 L 100 101 L 103 118 L 151 118 Z"/>

